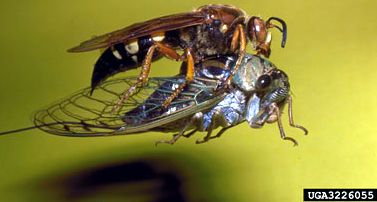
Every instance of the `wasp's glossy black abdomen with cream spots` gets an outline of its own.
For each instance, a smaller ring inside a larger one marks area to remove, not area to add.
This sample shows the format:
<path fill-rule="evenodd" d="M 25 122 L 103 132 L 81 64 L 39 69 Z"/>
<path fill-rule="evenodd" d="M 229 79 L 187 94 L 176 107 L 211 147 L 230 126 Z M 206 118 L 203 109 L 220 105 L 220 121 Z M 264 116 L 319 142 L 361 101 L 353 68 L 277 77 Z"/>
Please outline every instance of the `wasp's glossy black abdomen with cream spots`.
<path fill-rule="evenodd" d="M 148 49 L 153 45 L 155 39 L 159 40 L 160 38 L 146 36 L 107 48 L 94 65 L 92 90 L 103 80 L 114 74 L 141 66 Z M 152 60 L 159 58 L 160 54 L 156 51 Z"/>

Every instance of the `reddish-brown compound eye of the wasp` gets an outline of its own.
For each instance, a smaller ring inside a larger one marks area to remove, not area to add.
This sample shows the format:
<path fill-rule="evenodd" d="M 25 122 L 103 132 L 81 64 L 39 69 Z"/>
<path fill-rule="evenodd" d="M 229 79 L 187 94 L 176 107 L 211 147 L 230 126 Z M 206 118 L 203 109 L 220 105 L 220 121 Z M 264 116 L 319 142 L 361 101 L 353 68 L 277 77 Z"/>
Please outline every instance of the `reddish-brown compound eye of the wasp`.
<path fill-rule="evenodd" d="M 268 35 L 266 23 L 259 17 L 251 17 L 248 22 L 248 35 L 254 48 L 264 43 Z"/>

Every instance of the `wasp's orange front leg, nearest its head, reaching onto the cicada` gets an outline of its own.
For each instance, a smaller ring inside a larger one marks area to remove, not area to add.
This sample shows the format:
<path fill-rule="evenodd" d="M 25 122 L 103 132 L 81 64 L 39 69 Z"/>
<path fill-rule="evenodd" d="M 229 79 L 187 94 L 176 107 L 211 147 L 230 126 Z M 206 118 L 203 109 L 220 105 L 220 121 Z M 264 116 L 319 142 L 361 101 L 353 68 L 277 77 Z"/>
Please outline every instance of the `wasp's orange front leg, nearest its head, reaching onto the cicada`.
<path fill-rule="evenodd" d="M 231 44 L 231 49 L 235 51 L 237 48 L 236 42 L 239 42 L 240 49 L 238 51 L 238 59 L 236 61 L 236 64 L 234 66 L 234 69 L 232 70 L 230 76 L 226 79 L 225 83 L 223 85 L 228 86 L 230 82 L 233 79 L 234 74 L 237 72 L 238 68 L 241 66 L 242 60 L 245 56 L 245 50 L 246 50 L 246 36 L 245 32 L 243 30 L 242 25 L 237 25 L 236 30 L 234 31 L 234 35 L 232 38 L 232 44 Z"/>

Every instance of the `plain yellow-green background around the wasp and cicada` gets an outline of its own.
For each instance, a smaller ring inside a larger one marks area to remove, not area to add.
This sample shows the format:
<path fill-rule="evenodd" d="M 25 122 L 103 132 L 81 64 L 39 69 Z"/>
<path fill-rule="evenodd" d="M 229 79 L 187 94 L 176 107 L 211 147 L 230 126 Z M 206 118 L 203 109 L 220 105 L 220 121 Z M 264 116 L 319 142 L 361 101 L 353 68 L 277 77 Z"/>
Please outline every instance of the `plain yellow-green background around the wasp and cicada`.
<path fill-rule="evenodd" d="M 196 145 L 203 135 L 197 134 L 158 147 L 154 141 L 171 136 L 67 138 L 27 131 L 0 137 L 0 200 L 65 201 L 67 190 L 80 190 L 68 182 L 134 162 L 176 176 L 187 201 L 288 202 L 302 201 L 303 188 L 376 188 L 375 0 L 3 0 L 0 129 L 31 125 L 35 110 L 89 85 L 99 53 L 66 49 L 93 35 L 209 3 L 287 22 L 286 48 L 279 47 L 281 35 L 274 31 L 270 59 L 290 76 L 295 121 L 310 131 L 303 136 L 290 128 L 284 114 L 286 132 L 299 147 L 282 141 L 276 124 L 259 130 L 241 124 L 207 144 Z M 178 66 L 163 60 L 152 74 L 174 75 Z M 89 187 L 75 200 L 149 201 L 160 187 L 154 180 L 128 182 L 119 175 L 120 181 Z"/>

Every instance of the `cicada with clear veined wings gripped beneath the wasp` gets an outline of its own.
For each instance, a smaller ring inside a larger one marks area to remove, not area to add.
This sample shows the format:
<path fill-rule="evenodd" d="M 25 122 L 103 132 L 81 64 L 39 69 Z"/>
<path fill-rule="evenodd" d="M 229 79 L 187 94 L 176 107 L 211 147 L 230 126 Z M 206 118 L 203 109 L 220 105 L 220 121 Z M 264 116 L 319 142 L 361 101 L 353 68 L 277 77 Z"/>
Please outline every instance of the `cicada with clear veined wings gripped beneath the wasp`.
<path fill-rule="evenodd" d="M 90 87 L 80 90 L 37 112 L 35 126 L 31 128 L 72 137 L 139 134 L 145 131 L 176 133 L 171 140 L 156 144 L 174 144 L 182 136 L 189 137 L 197 131 L 207 132 L 203 139 L 196 141 L 199 144 L 220 137 L 226 130 L 244 121 L 252 128 L 277 122 L 281 138 L 297 145 L 296 140 L 286 136 L 283 129 L 281 111 L 286 104 L 289 124 L 305 134 L 308 131 L 293 121 L 288 76 L 267 59 L 246 54 L 232 77 L 230 88 L 217 90 L 218 85 L 231 75 L 238 57 L 237 54 L 224 55 L 196 64 L 194 80 L 167 108 L 163 106 L 164 101 L 185 83 L 187 63 L 182 65 L 177 76 L 152 77 L 144 87 L 137 87 L 117 113 L 112 113 L 112 106 L 122 96 L 123 89 L 133 85 L 136 77 L 105 81 L 98 86 L 98 93 L 92 96 Z M 218 127 L 221 130 L 212 135 Z"/>

